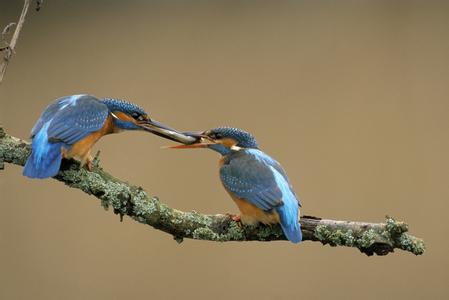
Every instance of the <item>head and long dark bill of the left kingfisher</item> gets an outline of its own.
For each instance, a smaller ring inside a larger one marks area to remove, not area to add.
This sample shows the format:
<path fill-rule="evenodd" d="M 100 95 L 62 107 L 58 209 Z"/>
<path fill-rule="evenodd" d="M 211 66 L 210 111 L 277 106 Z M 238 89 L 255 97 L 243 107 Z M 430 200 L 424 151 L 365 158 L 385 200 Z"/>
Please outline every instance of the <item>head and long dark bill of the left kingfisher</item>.
<path fill-rule="evenodd" d="M 145 130 L 166 139 L 185 144 L 196 141 L 195 137 L 184 135 L 151 119 L 145 110 L 136 104 L 118 99 L 103 99 L 102 101 L 109 108 L 114 124 L 119 129 Z"/>

